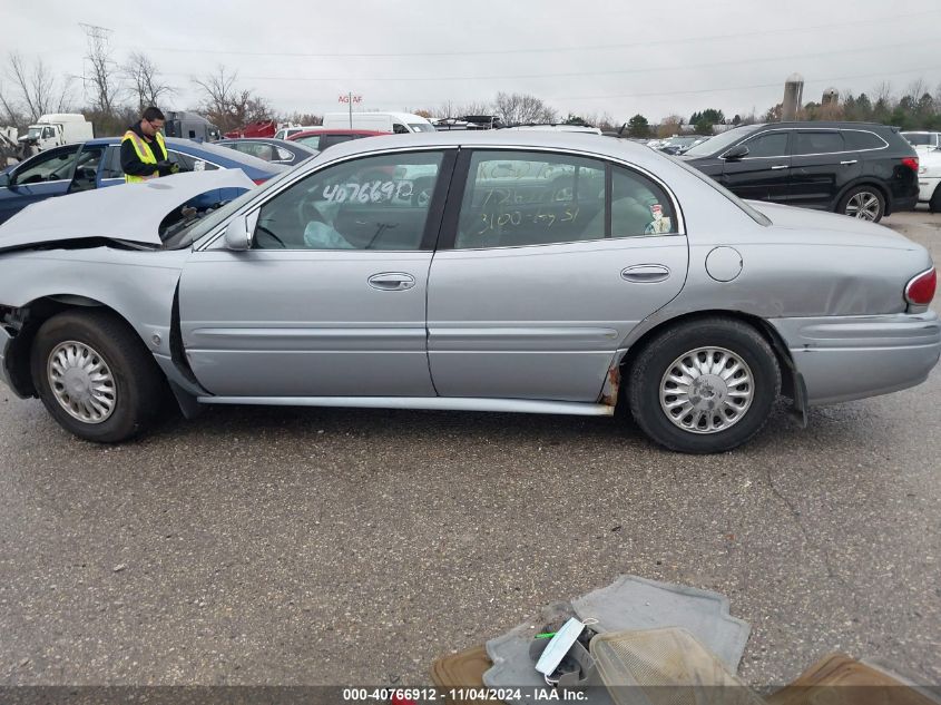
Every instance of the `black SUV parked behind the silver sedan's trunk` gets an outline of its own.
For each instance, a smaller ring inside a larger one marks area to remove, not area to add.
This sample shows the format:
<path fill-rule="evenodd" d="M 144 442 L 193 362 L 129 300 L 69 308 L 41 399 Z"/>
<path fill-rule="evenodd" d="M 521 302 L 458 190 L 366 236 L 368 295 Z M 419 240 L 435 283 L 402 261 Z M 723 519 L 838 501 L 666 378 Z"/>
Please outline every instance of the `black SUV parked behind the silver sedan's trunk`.
<path fill-rule="evenodd" d="M 878 222 L 918 204 L 918 157 L 896 127 L 774 123 L 722 133 L 679 157 L 742 198 Z"/>

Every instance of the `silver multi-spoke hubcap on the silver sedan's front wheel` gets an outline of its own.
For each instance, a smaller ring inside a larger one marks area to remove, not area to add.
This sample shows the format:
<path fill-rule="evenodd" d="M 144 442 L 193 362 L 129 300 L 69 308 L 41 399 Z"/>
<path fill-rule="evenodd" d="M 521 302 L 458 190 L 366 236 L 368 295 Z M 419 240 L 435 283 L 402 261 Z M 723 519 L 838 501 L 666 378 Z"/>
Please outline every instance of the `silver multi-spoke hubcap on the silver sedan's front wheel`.
<path fill-rule="evenodd" d="M 101 423 L 115 411 L 117 400 L 111 370 L 85 343 L 60 343 L 49 355 L 49 386 L 56 401 L 70 417 L 85 423 Z"/>

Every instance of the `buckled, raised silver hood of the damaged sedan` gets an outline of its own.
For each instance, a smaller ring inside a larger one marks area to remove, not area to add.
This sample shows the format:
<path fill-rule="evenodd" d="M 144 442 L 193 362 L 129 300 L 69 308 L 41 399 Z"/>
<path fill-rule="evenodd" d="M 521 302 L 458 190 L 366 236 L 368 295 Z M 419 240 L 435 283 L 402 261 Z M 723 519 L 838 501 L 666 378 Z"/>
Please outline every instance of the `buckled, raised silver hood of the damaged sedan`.
<path fill-rule="evenodd" d="M 0 251 L 88 238 L 159 246 L 160 222 L 175 208 L 215 189 L 254 187 L 241 169 L 215 169 L 47 198 L 0 225 Z"/>

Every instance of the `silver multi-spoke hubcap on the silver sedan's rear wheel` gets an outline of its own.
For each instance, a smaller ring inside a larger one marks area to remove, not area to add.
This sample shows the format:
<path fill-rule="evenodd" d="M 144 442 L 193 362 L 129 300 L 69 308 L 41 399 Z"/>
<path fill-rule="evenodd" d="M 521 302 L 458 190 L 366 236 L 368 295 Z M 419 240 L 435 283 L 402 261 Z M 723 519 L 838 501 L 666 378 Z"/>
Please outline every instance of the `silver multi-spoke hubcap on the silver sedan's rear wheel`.
<path fill-rule="evenodd" d="M 724 347 L 682 354 L 660 380 L 660 409 L 690 433 L 718 433 L 735 425 L 754 396 L 752 370 Z"/>

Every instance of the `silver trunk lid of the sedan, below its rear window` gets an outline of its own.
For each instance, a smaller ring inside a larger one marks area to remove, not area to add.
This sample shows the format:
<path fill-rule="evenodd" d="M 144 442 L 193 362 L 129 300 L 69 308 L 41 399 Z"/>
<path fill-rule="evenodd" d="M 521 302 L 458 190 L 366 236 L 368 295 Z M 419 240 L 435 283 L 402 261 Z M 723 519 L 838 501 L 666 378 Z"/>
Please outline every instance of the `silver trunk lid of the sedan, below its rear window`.
<path fill-rule="evenodd" d="M 839 213 L 796 208 L 764 200 L 748 200 L 749 206 L 766 215 L 775 229 L 806 233 L 807 239 L 861 247 L 914 249 L 918 247 L 904 235 L 883 225 L 851 218 Z"/>

